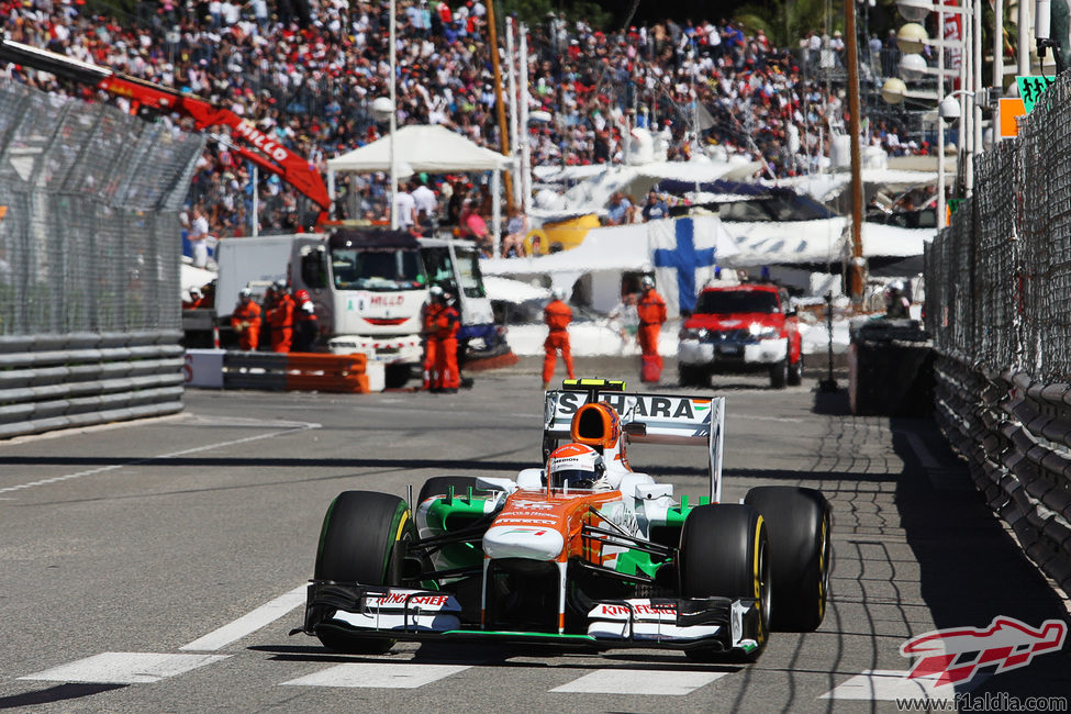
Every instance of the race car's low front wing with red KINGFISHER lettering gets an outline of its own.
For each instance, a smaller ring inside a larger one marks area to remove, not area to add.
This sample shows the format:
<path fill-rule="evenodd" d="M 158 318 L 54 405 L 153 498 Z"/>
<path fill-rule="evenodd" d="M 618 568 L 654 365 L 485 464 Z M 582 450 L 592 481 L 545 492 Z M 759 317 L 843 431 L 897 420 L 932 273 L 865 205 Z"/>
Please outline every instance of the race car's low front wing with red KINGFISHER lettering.
<path fill-rule="evenodd" d="M 553 644 L 580 649 L 624 647 L 750 652 L 762 637 L 757 601 L 729 598 L 596 601 L 585 634 L 498 632 L 462 626 L 461 605 L 448 593 L 313 580 L 304 626 L 368 639 L 482 640 Z"/>

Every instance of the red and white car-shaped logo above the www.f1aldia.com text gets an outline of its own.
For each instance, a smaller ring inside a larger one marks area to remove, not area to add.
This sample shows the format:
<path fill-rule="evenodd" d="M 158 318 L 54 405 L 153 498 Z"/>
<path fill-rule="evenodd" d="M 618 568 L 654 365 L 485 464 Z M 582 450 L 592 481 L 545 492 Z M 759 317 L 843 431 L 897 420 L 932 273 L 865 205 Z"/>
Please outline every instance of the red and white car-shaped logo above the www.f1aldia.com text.
<path fill-rule="evenodd" d="M 1037 655 L 1060 651 L 1068 626 L 1046 620 L 1039 629 L 1013 617 L 994 617 L 989 627 L 937 629 L 900 646 L 904 657 L 918 657 L 908 679 L 937 676 L 935 687 L 970 681 L 980 669 L 994 673 L 1029 665 Z"/>

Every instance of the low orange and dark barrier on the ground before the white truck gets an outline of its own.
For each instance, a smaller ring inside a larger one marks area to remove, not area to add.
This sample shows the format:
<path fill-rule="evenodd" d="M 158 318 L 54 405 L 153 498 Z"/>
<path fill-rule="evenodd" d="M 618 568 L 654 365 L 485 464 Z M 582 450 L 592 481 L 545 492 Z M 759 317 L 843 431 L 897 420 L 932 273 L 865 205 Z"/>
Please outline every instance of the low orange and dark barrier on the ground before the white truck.
<path fill-rule="evenodd" d="M 365 355 L 227 352 L 223 388 L 364 394 L 370 391 L 366 365 Z"/>

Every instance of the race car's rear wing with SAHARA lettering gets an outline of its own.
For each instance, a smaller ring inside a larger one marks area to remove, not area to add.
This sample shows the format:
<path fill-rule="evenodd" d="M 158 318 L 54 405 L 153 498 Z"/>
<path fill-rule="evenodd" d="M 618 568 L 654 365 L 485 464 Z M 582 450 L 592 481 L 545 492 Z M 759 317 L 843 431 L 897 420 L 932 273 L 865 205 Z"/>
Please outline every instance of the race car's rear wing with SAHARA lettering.
<path fill-rule="evenodd" d="M 624 382 L 566 380 L 544 402 L 544 460 L 560 439 L 568 440 L 572 415 L 589 402 L 607 402 L 621 415 L 628 443 L 706 446 L 711 503 L 722 498 L 725 398 L 625 392 Z M 635 426 L 629 426 L 635 425 Z"/>

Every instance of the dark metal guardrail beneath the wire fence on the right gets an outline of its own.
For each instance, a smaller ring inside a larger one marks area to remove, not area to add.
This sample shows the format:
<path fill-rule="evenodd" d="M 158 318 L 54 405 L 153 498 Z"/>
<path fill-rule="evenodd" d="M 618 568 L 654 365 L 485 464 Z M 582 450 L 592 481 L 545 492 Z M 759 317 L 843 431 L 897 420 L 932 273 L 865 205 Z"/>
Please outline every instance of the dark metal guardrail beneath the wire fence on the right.
<path fill-rule="evenodd" d="M 1071 591 L 1071 384 L 937 366 L 937 421 L 1026 554 Z"/>

